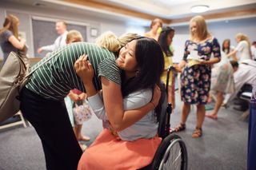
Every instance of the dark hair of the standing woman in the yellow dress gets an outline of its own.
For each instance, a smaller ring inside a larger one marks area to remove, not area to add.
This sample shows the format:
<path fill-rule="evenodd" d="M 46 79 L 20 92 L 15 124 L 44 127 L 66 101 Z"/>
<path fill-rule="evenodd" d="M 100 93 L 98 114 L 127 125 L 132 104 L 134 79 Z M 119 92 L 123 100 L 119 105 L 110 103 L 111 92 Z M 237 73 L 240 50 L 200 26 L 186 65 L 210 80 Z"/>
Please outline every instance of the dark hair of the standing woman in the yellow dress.
<path fill-rule="evenodd" d="M 167 38 L 170 32 L 174 32 L 175 30 L 173 28 L 170 28 L 169 26 L 166 26 L 162 29 L 159 38 L 158 43 L 162 47 L 162 51 L 166 53 L 167 57 L 171 57 L 174 55 L 172 51 L 170 51 L 170 45 L 167 44 Z"/>

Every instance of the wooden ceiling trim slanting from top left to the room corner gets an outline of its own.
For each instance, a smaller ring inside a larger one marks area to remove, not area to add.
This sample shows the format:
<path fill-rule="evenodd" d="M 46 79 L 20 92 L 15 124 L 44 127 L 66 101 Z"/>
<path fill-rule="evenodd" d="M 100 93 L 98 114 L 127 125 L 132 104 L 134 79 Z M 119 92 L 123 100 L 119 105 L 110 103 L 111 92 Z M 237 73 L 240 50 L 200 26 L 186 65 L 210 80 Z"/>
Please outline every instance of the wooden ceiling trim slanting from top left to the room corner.
<path fill-rule="evenodd" d="M 124 14 L 127 16 L 135 17 L 135 18 L 142 18 L 146 20 L 153 20 L 154 18 L 159 18 L 158 16 L 155 15 L 150 15 L 150 14 L 145 14 L 145 13 L 140 13 L 136 10 L 129 10 L 120 6 L 114 6 L 110 4 L 104 3 L 104 1 L 99 2 L 95 0 L 63 0 L 63 2 L 70 2 L 82 6 L 90 6 L 92 8 L 100 9 L 100 10 L 106 10 L 110 11 L 113 13 L 118 13 L 118 14 Z M 165 19 L 165 18 L 160 18 L 162 21 L 166 24 L 170 23 L 170 19 Z"/>

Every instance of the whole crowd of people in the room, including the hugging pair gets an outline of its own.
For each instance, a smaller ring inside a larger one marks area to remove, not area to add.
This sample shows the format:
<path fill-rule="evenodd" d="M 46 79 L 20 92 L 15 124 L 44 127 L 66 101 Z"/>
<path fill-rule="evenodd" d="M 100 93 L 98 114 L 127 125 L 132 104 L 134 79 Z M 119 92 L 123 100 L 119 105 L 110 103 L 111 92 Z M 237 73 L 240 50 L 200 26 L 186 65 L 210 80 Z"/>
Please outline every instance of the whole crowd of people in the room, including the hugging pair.
<path fill-rule="evenodd" d="M 18 18 L 10 14 L 0 30 L 2 65 L 11 51 L 26 50 L 26 40 L 18 36 L 18 24 Z M 181 121 L 172 131 L 186 129 L 191 105 L 196 105 L 193 138 L 202 136 L 205 117 L 217 120 L 221 106 L 227 105 L 243 85 L 254 87 L 248 169 L 256 167 L 252 158 L 256 155 L 256 43 L 250 45 L 246 34 L 239 33 L 235 35 L 236 47 L 230 39 L 225 39 L 221 46 L 202 16 L 191 18 L 189 24 L 190 38 L 185 42 L 182 61 L 174 64 L 175 30 L 163 26 L 161 19 L 154 19 L 144 36 L 130 33 L 117 37 L 106 32 L 95 43 L 84 42 L 77 30 L 68 31 L 66 22 L 56 22 L 58 38 L 53 45 L 38 48 L 38 53 L 50 53 L 31 69 L 50 60 L 32 73 L 21 95 L 22 114 L 42 141 L 47 169 L 118 169 L 121 165 L 138 169 L 150 164 L 162 140 L 157 134 L 161 110 L 159 86 L 161 81 L 166 83 L 169 66 L 181 74 Z M 170 73 L 166 87 L 167 101 L 173 109 L 175 75 Z M 206 113 L 205 106 L 212 99 L 214 109 Z M 74 117 L 75 105 L 85 100 L 103 125 L 89 148 L 78 143 L 90 137 L 82 135 L 83 122 L 78 123 Z"/>

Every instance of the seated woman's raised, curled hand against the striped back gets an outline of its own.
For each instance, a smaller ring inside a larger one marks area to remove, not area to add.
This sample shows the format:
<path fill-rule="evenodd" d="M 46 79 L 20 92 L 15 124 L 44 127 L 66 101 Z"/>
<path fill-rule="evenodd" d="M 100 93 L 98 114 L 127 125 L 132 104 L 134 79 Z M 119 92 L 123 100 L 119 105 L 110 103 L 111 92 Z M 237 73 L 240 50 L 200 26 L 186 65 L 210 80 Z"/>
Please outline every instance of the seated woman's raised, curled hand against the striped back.
<path fill-rule="evenodd" d="M 87 58 L 88 56 L 83 54 L 74 63 L 74 69 L 78 76 L 82 78 L 84 84 L 91 83 L 94 77 L 94 68 L 90 62 L 87 61 Z"/>

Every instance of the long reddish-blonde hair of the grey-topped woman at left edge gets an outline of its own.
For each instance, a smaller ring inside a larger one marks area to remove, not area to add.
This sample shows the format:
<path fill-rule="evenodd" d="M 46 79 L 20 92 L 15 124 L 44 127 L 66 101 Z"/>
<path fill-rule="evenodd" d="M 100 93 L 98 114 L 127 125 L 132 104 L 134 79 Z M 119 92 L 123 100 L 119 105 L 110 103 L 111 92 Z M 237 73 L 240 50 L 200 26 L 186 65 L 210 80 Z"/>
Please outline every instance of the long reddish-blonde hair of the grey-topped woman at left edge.
<path fill-rule="evenodd" d="M 18 39 L 18 22 L 18 18 L 13 14 L 7 15 L 0 34 L 6 30 L 10 30 L 14 34 L 14 37 Z"/>

